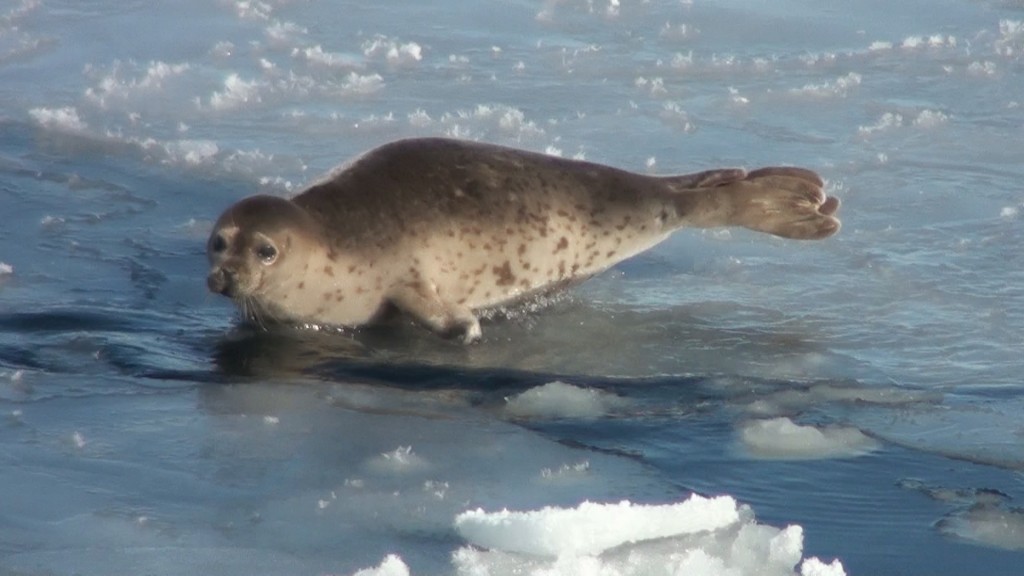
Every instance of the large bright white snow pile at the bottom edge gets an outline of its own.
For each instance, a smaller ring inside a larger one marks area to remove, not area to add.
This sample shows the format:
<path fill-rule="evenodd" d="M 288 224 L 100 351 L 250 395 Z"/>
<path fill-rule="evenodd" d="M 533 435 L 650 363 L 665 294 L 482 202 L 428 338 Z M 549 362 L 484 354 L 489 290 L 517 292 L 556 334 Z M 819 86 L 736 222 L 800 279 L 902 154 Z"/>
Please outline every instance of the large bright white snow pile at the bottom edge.
<path fill-rule="evenodd" d="M 528 512 L 467 511 L 456 530 L 473 546 L 452 562 L 461 575 L 578 574 L 845 576 L 839 561 L 804 560 L 803 529 L 758 525 L 728 496 L 678 504 L 584 502 Z M 480 549 L 489 548 L 489 549 Z"/>

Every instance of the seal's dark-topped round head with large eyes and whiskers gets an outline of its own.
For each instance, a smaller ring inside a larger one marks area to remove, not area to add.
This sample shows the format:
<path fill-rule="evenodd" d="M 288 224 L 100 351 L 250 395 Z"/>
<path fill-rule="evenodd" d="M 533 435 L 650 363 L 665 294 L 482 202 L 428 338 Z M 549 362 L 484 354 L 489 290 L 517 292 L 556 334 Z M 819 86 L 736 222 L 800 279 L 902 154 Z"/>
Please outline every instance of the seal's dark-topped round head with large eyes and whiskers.
<path fill-rule="evenodd" d="M 206 244 L 211 292 L 234 299 L 251 320 L 276 316 L 275 291 L 302 274 L 317 246 L 316 223 L 294 203 L 253 196 L 217 219 Z"/>

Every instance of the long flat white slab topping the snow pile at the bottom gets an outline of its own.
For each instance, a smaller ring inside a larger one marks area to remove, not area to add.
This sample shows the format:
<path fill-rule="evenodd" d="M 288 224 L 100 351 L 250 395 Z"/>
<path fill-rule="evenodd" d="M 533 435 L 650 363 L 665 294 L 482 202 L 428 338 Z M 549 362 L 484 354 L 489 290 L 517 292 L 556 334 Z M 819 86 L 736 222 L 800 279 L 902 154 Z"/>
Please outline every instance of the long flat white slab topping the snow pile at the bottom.
<path fill-rule="evenodd" d="M 696 494 L 678 504 L 583 502 L 575 508 L 465 511 L 455 519 L 459 534 L 477 546 L 530 556 L 597 554 L 626 543 L 713 531 L 739 521 L 731 496 Z"/>

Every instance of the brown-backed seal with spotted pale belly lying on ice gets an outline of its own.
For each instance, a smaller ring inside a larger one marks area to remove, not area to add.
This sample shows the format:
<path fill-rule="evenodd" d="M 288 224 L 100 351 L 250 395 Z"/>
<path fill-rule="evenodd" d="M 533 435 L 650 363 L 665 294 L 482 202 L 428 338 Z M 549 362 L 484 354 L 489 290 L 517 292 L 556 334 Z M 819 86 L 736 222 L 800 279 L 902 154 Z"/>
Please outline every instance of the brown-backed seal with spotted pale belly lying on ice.
<path fill-rule="evenodd" d="M 683 227 L 792 239 L 840 229 L 811 170 L 651 176 L 446 138 L 377 148 L 288 200 L 243 199 L 207 286 L 249 321 L 356 327 L 397 308 L 472 342 L 478 314 L 581 282 Z"/>

